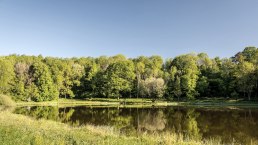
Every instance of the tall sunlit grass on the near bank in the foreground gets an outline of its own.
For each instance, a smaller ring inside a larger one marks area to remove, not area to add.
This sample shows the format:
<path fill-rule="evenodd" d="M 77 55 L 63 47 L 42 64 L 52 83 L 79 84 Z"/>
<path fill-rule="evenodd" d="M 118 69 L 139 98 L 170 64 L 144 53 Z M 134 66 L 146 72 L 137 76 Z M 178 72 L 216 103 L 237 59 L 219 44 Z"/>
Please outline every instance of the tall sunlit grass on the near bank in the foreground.
<path fill-rule="evenodd" d="M 0 112 L 0 144 L 220 144 L 219 140 L 193 140 L 180 134 L 163 133 L 128 137 L 108 126 L 70 127 L 49 120 Z"/>

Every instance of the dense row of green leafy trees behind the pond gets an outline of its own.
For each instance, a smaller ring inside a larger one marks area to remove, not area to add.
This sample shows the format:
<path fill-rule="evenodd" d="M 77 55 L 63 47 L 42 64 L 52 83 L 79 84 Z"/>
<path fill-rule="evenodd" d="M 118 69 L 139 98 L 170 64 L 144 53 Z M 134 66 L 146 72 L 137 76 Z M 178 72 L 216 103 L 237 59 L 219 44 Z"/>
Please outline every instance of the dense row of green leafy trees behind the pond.
<path fill-rule="evenodd" d="M 258 98 L 258 48 L 231 58 L 186 54 L 127 59 L 0 57 L 0 93 L 22 101 L 58 98 Z"/>

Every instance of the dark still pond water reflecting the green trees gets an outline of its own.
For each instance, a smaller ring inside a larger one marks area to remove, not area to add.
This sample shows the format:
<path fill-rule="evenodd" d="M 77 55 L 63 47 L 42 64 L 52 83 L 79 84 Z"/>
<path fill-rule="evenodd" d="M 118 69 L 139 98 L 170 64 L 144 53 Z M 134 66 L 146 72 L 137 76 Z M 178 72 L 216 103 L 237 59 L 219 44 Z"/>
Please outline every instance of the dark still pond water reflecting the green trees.
<path fill-rule="evenodd" d="M 189 138 L 216 138 L 243 144 L 257 142 L 257 109 L 207 109 L 187 107 L 20 107 L 14 111 L 36 119 L 44 118 L 70 125 L 112 126 L 127 135 L 176 132 Z"/>

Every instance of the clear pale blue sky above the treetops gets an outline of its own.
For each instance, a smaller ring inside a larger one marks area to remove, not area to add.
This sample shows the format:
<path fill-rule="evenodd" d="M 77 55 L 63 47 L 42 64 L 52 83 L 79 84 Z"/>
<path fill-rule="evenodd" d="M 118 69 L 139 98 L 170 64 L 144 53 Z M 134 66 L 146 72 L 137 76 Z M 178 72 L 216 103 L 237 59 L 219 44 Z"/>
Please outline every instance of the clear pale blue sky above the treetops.
<path fill-rule="evenodd" d="M 230 57 L 258 46 L 258 0 L 0 0 L 0 55 Z"/>

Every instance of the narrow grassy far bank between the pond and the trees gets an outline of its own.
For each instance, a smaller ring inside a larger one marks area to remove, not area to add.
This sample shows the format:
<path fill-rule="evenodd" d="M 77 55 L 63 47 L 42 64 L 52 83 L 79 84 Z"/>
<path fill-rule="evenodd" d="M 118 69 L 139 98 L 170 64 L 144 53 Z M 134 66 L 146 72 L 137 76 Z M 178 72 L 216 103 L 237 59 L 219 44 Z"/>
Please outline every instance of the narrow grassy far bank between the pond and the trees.
<path fill-rule="evenodd" d="M 166 101 L 157 100 L 152 102 L 151 99 L 109 99 L 109 98 L 93 98 L 93 99 L 59 99 L 58 101 L 46 102 L 16 102 L 18 106 L 76 106 L 76 105 L 92 105 L 92 106 L 236 106 L 236 107 L 258 107 L 258 102 L 245 100 L 232 100 L 224 98 L 213 99 L 197 99 L 193 101 Z"/>

